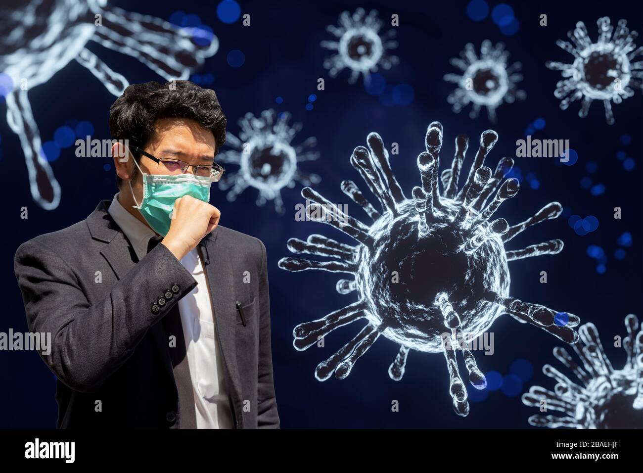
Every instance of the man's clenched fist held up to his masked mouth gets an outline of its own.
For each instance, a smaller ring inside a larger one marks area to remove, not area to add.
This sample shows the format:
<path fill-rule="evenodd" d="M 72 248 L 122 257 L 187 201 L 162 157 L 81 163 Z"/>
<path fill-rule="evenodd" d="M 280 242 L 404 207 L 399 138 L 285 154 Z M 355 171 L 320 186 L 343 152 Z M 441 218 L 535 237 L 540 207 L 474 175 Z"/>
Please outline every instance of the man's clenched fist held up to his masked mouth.
<path fill-rule="evenodd" d="M 219 218 L 217 207 L 192 196 L 179 197 L 174 201 L 170 231 L 161 243 L 180 261 L 219 225 Z"/>

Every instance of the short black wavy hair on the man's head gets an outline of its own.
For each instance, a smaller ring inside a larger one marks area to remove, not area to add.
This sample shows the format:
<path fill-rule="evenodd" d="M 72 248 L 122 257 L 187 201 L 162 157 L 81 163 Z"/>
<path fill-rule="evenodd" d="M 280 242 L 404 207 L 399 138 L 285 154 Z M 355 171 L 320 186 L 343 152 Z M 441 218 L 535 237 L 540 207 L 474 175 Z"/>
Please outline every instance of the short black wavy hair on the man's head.
<path fill-rule="evenodd" d="M 212 89 L 203 89 L 189 80 L 172 80 L 166 84 L 145 82 L 128 86 L 109 109 L 109 132 L 112 140 L 128 140 L 144 148 L 154 135 L 154 123 L 161 118 L 191 118 L 212 131 L 214 154 L 226 142 L 228 120 Z M 131 152 L 134 159 L 138 153 Z M 136 176 L 136 167 L 134 167 Z M 116 176 L 119 189 L 122 179 Z"/>

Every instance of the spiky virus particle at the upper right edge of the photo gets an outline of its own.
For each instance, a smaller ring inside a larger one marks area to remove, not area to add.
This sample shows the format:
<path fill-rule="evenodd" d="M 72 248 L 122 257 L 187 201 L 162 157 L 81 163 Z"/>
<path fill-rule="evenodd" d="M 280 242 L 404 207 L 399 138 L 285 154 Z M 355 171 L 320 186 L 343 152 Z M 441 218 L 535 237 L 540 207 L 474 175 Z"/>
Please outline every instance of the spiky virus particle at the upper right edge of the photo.
<path fill-rule="evenodd" d="M 597 42 L 592 42 L 582 21 L 576 23 L 573 32 L 567 33 L 574 44 L 556 41 L 560 48 L 574 56 L 572 64 L 548 61 L 545 65 L 561 71 L 566 78 L 556 84 L 554 91 L 554 96 L 561 99 L 561 109 L 565 110 L 571 102 L 583 98 L 578 116 L 585 118 L 592 100 L 602 100 L 605 119 L 612 125 L 614 115 L 610 100 L 620 104 L 624 98 L 634 95 L 631 87 L 642 88 L 643 60 L 631 61 L 643 53 L 643 46 L 635 49 L 634 40 L 638 33 L 630 32 L 625 20 L 619 21 L 616 31 L 608 17 L 599 18 L 597 24 Z"/>

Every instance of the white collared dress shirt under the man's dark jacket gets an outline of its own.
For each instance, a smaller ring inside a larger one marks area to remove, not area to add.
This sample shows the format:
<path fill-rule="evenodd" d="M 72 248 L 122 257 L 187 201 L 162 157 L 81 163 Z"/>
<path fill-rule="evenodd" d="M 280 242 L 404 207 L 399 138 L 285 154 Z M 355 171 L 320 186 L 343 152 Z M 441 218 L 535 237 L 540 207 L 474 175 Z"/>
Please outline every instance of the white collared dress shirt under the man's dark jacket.
<path fill-rule="evenodd" d="M 149 239 L 156 236 L 156 232 L 123 209 L 118 201 L 118 192 L 114 195 L 108 211 L 123 230 L 139 261 L 143 259 L 147 254 Z M 201 255 L 197 248 L 181 259 L 181 264 L 192 273 L 197 285 L 192 292 L 179 301 L 192 391 L 194 391 L 197 428 L 232 429 L 234 425 L 212 315 L 210 288 L 208 288 Z"/>

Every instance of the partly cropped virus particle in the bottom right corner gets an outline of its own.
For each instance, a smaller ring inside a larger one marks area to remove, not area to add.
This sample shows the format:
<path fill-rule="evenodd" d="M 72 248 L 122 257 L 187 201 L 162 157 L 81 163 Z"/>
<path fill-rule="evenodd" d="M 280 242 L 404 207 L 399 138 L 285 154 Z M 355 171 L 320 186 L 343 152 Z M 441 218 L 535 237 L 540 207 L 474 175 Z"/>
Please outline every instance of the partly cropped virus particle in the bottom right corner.
<path fill-rule="evenodd" d="M 636 315 L 625 317 L 628 336 L 623 348 L 628 360 L 622 369 L 614 369 L 592 323 L 579 327 L 583 343 L 573 344 L 581 359 L 579 366 L 566 349 L 554 348 L 554 357 L 572 371 L 578 382 L 570 380 L 551 365 L 543 373 L 556 380 L 554 392 L 533 386 L 522 396 L 523 403 L 543 410 L 558 411 L 563 416 L 531 416 L 536 427 L 575 427 L 576 429 L 640 429 L 643 427 L 643 330 L 638 331 Z M 616 338 L 616 337 L 615 337 Z M 620 338 L 619 338 L 620 340 Z M 620 344 L 616 344 L 619 346 Z"/>

